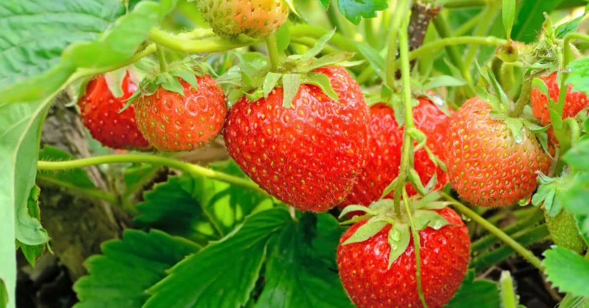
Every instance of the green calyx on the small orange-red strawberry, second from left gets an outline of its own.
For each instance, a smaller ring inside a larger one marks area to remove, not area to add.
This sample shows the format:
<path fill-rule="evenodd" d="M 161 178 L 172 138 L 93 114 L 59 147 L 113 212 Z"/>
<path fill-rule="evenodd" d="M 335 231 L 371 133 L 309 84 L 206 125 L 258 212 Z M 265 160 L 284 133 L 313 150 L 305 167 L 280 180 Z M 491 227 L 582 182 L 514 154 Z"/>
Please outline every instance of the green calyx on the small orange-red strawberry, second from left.
<path fill-rule="evenodd" d="M 205 62 L 196 61 L 198 56 L 187 57 L 182 61 L 172 63 L 168 65 L 166 71 L 160 71 L 160 69 L 156 69 L 157 65 L 152 63 L 152 65 L 148 65 L 148 68 L 145 68 L 147 75 L 141 80 L 137 91 L 128 98 L 127 104 L 119 111 L 123 112 L 127 109 L 137 98 L 141 96 L 152 95 L 158 88 L 163 88 L 164 90 L 170 92 L 176 92 L 182 96 L 184 96 L 184 87 L 180 83 L 180 80 L 184 80 L 188 82 L 195 90 L 198 89 L 198 81 L 196 77 L 203 76 L 207 73 L 207 71 L 213 71 L 212 68 L 209 67 L 208 64 Z"/>

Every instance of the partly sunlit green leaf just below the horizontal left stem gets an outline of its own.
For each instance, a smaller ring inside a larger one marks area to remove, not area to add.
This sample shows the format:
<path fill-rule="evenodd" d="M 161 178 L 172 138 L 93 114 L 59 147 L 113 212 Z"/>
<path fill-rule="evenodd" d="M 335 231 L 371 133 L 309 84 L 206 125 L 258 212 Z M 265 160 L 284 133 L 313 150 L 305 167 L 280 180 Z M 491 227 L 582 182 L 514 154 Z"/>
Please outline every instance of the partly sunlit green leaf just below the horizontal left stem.
<path fill-rule="evenodd" d="M 245 177 L 233 161 L 210 167 Z M 266 195 L 184 174 L 171 177 L 166 183 L 147 191 L 144 201 L 137 205 L 139 214 L 133 223 L 138 227 L 157 228 L 187 237 L 204 245 L 229 233 L 250 213 L 273 205 L 272 199 Z"/>

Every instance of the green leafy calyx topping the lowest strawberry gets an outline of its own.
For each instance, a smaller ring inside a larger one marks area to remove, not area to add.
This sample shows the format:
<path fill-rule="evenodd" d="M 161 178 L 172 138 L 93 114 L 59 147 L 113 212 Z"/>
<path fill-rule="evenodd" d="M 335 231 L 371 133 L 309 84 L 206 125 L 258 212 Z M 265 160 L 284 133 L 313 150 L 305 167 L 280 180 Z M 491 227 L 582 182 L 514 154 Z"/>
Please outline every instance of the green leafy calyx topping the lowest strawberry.
<path fill-rule="evenodd" d="M 448 225 L 446 218 L 442 217 L 435 210 L 440 210 L 450 202 L 438 201 L 439 193 L 430 193 L 426 196 L 413 196 L 409 198 L 412 213 L 411 219 L 416 231 L 421 231 L 426 227 L 439 230 Z M 389 269 L 393 262 L 409 246 L 411 239 L 411 221 L 407 213 L 395 213 L 394 201 L 391 199 L 380 199 L 370 204 L 369 207 L 351 205 L 343 209 L 340 218 L 346 216 L 353 211 L 362 211 L 365 214 L 362 216 L 355 216 L 351 220 L 344 221 L 342 224 L 354 223 L 360 220 L 367 220 L 365 224 L 360 226 L 352 236 L 348 238 L 343 245 L 351 243 L 360 243 L 366 241 L 375 234 L 379 233 L 387 225 L 391 226 L 388 234 L 388 242 L 391 247 L 391 254 L 389 255 Z"/>

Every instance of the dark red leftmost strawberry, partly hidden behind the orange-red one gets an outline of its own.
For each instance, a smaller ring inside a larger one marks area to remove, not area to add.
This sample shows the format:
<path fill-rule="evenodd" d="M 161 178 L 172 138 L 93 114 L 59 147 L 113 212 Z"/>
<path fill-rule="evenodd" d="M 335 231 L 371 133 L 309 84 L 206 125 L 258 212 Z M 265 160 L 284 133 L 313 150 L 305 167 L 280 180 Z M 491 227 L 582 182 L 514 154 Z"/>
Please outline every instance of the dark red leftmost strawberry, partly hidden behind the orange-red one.
<path fill-rule="evenodd" d="M 94 139 L 107 147 L 146 150 L 149 144 L 137 128 L 134 105 L 118 113 L 127 104 L 125 100 L 137 90 L 129 72 L 123 78 L 121 88 L 123 96 L 114 97 L 104 75 L 88 82 L 84 95 L 78 100 L 84 126 Z"/>

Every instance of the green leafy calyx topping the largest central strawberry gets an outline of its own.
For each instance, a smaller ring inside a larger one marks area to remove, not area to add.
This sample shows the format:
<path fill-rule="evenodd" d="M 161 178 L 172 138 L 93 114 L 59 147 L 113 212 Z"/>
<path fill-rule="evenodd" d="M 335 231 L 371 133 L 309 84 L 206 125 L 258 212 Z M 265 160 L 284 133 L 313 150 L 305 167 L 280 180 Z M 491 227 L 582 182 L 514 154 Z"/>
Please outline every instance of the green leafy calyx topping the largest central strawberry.
<path fill-rule="evenodd" d="M 346 61 L 354 56 L 352 52 L 334 52 L 315 58 L 334 33 L 335 29 L 324 35 L 317 41 L 315 47 L 305 54 L 286 57 L 276 69 L 272 69 L 269 59 L 262 54 L 256 52 L 237 54 L 240 65 L 229 69 L 217 81 L 227 85 L 227 98 L 232 104 L 244 95 L 250 101 L 267 98 L 274 88 L 279 87 L 283 88 L 283 107 L 290 108 L 301 84 L 316 85 L 329 98 L 337 101 L 339 98 L 333 91 L 329 78 L 313 70 L 335 64 L 349 67 L 358 65 L 361 61 Z"/>

